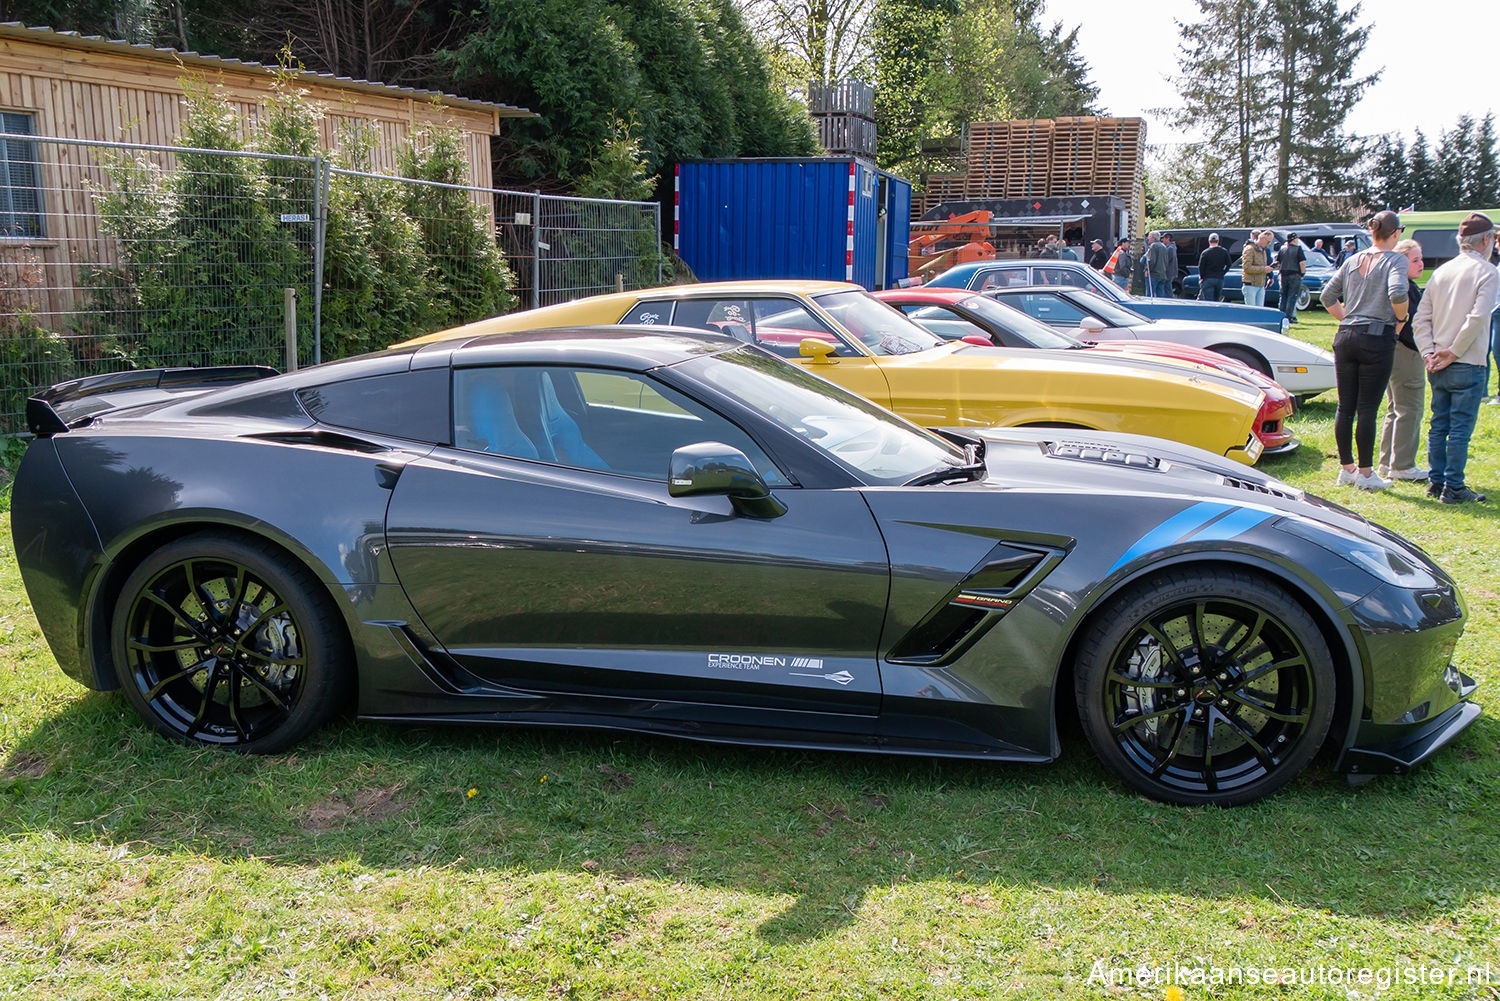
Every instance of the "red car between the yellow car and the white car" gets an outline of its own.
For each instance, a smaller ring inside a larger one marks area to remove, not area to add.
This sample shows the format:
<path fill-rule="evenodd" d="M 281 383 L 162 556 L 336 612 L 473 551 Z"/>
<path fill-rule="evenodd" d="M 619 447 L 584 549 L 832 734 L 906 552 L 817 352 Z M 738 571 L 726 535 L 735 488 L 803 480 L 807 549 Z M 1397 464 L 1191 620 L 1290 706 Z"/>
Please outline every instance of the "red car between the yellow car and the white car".
<path fill-rule="evenodd" d="M 963 288 L 890 288 L 874 293 L 874 297 L 950 341 L 987 342 L 1004 348 L 1108 351 L 1143 360 L 1191 362 L 1216 368 L 1252 383 L 1266 395 L 1256 422 L 1256 437 L 1264 446 L 1262 455 L 1292 452 L 1302 444 L 1287 428 L 1287 417 L 1294 408 L 1292 393 L 1281 383 L 1218 351 L 1166 341 L 1078 341 L 990 296 Z"/>

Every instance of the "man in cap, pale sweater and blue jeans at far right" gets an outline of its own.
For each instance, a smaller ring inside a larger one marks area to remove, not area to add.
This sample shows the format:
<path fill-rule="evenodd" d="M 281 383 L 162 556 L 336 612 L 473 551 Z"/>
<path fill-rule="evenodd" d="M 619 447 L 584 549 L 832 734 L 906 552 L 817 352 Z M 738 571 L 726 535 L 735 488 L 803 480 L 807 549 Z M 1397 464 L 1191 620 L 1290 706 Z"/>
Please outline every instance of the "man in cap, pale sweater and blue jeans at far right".
<path fill-rule="evenodd" d="M 1432 272 L 1412 335 L 1432 387 L 1428 423 L 1426 495 L 1444 504 L 1482 501 L 1464 483 L 1468 437 L 1485 395 L 1485 356 L 1490 351 L 1490 314 L 1496 308 L 1500 273 L 1490 264 L 1496 227 L 1490 216 L 1472 212 L 1458 224 L 1460 255 Z"/>

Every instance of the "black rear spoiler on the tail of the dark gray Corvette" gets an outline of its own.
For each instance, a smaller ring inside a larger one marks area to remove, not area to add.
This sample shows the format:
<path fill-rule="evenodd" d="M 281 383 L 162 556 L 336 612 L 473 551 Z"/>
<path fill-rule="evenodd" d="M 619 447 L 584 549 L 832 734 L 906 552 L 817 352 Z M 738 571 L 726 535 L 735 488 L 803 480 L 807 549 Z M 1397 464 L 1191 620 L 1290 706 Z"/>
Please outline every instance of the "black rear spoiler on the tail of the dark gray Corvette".
<path fill-rule="evenodd" d="M 58 383 L 26 401 L 26 423 L 38 438 L 64 434 L 96 416 L 150 404 L 180 393 L 222 389 L 280 375 L 266 365 L 219 365 L 213 368 L 156 368 L 105 372 Z"/>

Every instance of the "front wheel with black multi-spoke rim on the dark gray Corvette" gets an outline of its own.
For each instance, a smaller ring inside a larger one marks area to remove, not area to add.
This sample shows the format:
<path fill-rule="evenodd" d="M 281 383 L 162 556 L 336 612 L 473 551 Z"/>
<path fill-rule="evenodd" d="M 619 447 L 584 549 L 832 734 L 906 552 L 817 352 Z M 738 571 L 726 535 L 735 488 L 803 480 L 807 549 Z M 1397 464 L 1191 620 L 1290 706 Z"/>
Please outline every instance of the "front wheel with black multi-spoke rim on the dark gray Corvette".
<path fill-rule="evenodd" d="M 1260 800 L 1312 761 L 1334 719 L 1332 657 L 1312 617 L 1236 570 L 1128 588 L 1094 615 L 1076 668 L 1089 744 L 1166 803 Z"/>

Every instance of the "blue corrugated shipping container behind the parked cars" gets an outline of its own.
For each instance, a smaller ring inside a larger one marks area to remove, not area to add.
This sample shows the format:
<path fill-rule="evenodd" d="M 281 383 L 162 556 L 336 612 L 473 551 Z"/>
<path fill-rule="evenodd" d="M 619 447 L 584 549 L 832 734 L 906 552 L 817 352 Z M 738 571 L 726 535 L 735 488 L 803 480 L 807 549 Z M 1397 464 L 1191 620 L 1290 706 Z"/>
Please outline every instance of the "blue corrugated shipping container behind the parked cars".
<path fill-rule="evenodd" d="M 909 182 L 854 158 L 676 165 L 674 248 L 704 281 L 906 278 Z"/>

